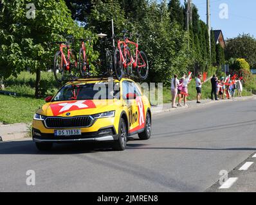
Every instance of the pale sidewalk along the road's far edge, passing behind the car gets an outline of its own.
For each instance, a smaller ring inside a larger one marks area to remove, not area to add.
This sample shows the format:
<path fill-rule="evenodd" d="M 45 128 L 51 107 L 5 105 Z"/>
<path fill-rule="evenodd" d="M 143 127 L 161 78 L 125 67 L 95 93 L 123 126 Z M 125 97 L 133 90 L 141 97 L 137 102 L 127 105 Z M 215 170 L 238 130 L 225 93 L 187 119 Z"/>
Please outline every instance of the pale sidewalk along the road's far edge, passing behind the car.
<path fill-rule="evenodd" d="M 170 111 L 178 111 L 185 108 L 197 108 L 199 106 L 205 106 L 206 104 L 212 103 L 221 103 L 221 102 L 230 102 L 230 101 L 244 101 L 247 99 L 256 99 L 256 95 L 248 96 L 248 97 L 235 97 L 230 100 L 220 100 L 220 101 L 212 101 L 210 99 L 201 100 L 200 104 L 197 104 L 196 101 L 187 101 L 187 106 L 181 106 L 178 108 L 171 108 L 170 103 L 165 103 L 159 106 L 151 106 L 151 111 L 154 114 L 170 112 Z M 28 125 L 25 123 L 18 124 L 1 124 L 0 122 L 0 142 L 1 141 L 9 141 L 16 140 L 19 138 L 24 138 L 27 135 Z"/>

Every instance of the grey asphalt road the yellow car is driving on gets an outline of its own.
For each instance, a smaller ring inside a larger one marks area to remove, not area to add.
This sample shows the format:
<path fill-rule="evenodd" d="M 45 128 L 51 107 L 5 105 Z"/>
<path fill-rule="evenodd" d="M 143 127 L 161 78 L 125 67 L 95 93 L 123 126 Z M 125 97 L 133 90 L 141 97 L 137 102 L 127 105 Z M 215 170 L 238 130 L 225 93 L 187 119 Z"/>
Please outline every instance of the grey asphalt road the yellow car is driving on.
<path fill-rule="evenodd" d="M 1 142 L 0 192 L 215 192 L 221 170 L 234 172 L 256 152 L 255 122 L 255 100 L 233 101 L 154 115 L 151 139 L 134 136 L 122 152 L 81 144 L 39 152 L 31 140 Z M 35 186 L 26 184 L 27 170 Z M 246 185 L 242 173 L 234 187 L 255 190 L 255 177 Z"/>

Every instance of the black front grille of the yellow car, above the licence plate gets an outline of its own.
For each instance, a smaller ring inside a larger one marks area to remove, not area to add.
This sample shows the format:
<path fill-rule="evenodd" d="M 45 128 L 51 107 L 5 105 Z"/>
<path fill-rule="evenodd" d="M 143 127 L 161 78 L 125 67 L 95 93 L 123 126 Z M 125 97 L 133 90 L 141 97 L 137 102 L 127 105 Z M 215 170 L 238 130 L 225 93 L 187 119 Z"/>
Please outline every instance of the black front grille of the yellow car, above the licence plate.
<path fill-rule="evenodd" d="M 48 128 L 67 128 L 67 127 L 89 127 L 93 119 L 89 116 L 82 117 L 48 117 L 45 120 Z"/>

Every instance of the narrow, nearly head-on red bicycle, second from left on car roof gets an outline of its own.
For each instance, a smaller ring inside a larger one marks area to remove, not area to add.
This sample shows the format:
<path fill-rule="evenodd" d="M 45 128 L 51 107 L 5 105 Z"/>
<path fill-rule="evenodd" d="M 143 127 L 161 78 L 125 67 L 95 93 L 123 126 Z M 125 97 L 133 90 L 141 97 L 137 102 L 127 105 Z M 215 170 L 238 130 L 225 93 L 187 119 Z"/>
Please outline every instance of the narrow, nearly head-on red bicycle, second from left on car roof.
<path fill-rule="evenodd" d="M 80 47 L 80 51 L 79 51 L 79 56 L 78 56 L 78 65 L 79 65 L 79 69 L 80 69 L 80 75 L 81 76 L 90 76 L 91 74 L 89 73 L 89 61 L 88 58 L 86 56 L 86 44 L 85 41 L 89 42 L 89 45 L 91 44 L 91 39 L 84 39 L 84 38 L 80 38 L 81 41 L 81 47 Z"/>

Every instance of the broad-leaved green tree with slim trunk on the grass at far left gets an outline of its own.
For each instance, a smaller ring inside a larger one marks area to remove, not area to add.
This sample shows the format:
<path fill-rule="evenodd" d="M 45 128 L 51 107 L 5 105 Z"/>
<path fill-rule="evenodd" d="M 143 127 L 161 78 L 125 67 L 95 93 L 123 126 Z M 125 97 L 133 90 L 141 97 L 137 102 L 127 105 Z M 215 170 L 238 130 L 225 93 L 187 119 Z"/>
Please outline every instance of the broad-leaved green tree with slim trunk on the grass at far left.
<path fill-rule="evenodd" d="M 36 73 L 35 97 L 40 97 L 41 70 L 51 67 L 57 47 L 50 50 L 48 42 L 64 40 L 66 35 L 91 35 L 71 18 L 63 0 L 35 0 L 35 16 L 26 9 L 28 0 L 3 0 L 0 19 L 1 56 L 0 73 L 17 76 L 30 68 Z M 29 17 L 28 17 L 29 16 Z"/>

